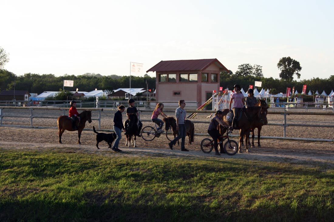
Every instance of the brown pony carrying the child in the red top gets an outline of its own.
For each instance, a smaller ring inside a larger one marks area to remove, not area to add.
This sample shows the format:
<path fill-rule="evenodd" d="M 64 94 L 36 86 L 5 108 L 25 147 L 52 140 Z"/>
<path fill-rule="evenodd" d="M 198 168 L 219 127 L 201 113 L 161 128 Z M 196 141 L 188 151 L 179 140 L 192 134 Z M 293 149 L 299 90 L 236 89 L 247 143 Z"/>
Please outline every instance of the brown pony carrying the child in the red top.
<path fill-rule="evenodd" d="M 80 123 L 78 126 L 78 144 L 80 143 L 80 136 L 81 136 L 81 132 L 83 130 L 83 128 L 85 128 L 86 126 L 86 121 L 88 121 L 89 123 L 92 122 L 92 110 L 85 110 L 82 113 L 79 114 L 80 117 Z M 57 119 L 57 124 L 58 124 L 58 134 L 59 134 L 59 143 L 61 143 L 61 135 L 65 132 L 65 130 L 67 131 L 75 131 L 72 128 L 72 121 L 68 116 L 59 116 L 59 118 Z"/>

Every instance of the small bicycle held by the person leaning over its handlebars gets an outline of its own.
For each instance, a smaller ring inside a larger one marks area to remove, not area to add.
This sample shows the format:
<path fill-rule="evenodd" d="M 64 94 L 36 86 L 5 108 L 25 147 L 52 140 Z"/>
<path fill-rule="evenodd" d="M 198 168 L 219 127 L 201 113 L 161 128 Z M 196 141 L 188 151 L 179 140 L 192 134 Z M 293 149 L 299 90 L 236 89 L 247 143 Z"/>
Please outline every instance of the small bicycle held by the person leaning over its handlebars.
<path fill-rule="evenodd" d="M 226 131 L 226 136 L 220 136 L 218 139 L 220 142 L 218 144 L 222 144 L 224 140 L 227 139 L 227 142 L 224 144 L 223 148 L 227 155 L 234 155 L 238 152 L 238 143 L 235 140 L 230 140 L 228 134 L 232 132 L 232 128 L 228 127 Z M 205 138 L 201 142 L 201 150 L 204 153 L 210 153 L 213 150 L 213 139 Z M 221 148 L 220 148 L 221 149 Z"/>

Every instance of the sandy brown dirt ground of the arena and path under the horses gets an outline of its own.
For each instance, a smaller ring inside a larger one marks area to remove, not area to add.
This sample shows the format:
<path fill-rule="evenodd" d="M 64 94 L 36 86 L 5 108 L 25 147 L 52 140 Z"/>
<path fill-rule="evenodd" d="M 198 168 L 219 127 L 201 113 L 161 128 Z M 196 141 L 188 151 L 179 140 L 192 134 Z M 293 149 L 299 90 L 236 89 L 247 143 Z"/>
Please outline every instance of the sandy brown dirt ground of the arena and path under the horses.
<path fill-rule="evenodd" d="M 98 112 L 93 111 L 93 118 L 98 117 Z M 232 158 L 241 158 L 247 160 L 258 161 L 275 161 L 275 162 L 289 162 L 295 164 L 307 164 L 317 166 L 319 164 L 328 166 L 328 168 L 334 167 L 334 143 L 333 142 L 309 142 L 309 141 L 294 141 L 294 140 L 281 140 L 281 139 L 263 139 L 261 140 L 262 147 L 250 148 L 249 153 L 237 153 L 234 156 L 228 156 L 222 154 L 221 156 L 215 156 L 214 152 L 205 154 L 200 150 L 200 142 L 207 136 L 195 135 L 195 141 L 191 145 L 186 145 L 186 148 L 190 152 L 181 152 L 180 146 L 174 146 L 173 150 L 168 148 L 168 140 L 164 134 L 159 138 L 155 138 L 153 141 L 145 141 L 142 138 L 137 138 L 136 147 L 125 147 L 125 136 L 122 137 L 119 148 L 123 152 L 115 153 L 108 149 L 106 142 L 99 144 L 100 149 L 97 149 L 96 134 L 93 132 L 93 126 L 97 128 L 97 131 L 105 132 L 102 130 L 110 130 L 113 128 L 113 116 L 115 110 L 104 110 L 101 114 L 101 130 L 98 130 L 98 120 L 93 120 L 92 123 L 86 124 L 85 130 L 81 134 L 81 145 L 77 144 L 77 131 L 68 132 L 65 131 L 61 140 L 62 144 L 58 143 L 58 129 L 57 128 L 31 128 L 30 118 L 12 118 L 4 117 L 3 125 L 23 125 L 18 126 L 0 126 L 0 149 L 12 150 L 12 149 L 26 149 L 26 150 L 43 150 L 43 151 L 57 151 L 57 152 L 76 152 L 87 153 L 105 156 L 150 156 L 150 157 L 163 157 L 174 156 L 180 158 L 215 158 L 222 161 Z M 30 116 L 29 110 L 13 110 L 5 109 L 4 114 L 11 115 L 24 115 Z M 174 116 L 174 113 L 166 113 L 169 116 Z M 40 116 L 60 116 L 62 111 L 57 110 L 34 110 L 33 115 Z M 151 113 L 143 112 L 140 118 L 142 120 L 150 119 Z M 208 114 L 198 114 L 193 121 L 207 121 Z M 123 119 L 125 115 L 123 115 Z M 333 125 L 334 119 L 331 116 L 312 116 L 312 115 L 289 115 L 287 116 L 288 123 L 300 123 L 300 124 L 321 124 L 321 125 Z M 269 123 L 283 123 L 283 116 L 280 114 L 269 114 Z M 195 123 L 195 133 L 206 133 L 208 123 Z M 153 124 L 151 122 L 143 121 L 143 126 Z M 34 118 L 34 127 L 57 127 L 56 119 L 48 118 Z M 108 133 L 108 132 L 107 132 Z M 237 134 L 236 130 L 233 134 Z M 255 131 L 257 135 L 257 130 Z M 282 126 L 264 126 L 261 131 L 262 136 L 283 136 Z M 333 139 L 334 131 L 328 127 L 288 127 L 287 137 L 300 137 L 300 138 L 322 138 Z M 238 141 L 238 137 L 232 137 L 232 139 Z M 186 139 L 187 141 L 187 139 Z M 245 151 L 244 146 L 241 147 Z"/>

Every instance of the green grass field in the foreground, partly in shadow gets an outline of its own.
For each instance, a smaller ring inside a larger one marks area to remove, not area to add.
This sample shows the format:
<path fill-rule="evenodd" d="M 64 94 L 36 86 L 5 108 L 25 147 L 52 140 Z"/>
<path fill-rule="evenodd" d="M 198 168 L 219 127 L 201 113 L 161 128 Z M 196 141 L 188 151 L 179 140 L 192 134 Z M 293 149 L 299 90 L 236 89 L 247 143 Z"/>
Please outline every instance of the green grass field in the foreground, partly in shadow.
<path fill-rule="evenodd" d="M 334 170 L 0 148 L 0 221 L 332 221 Z"/>

